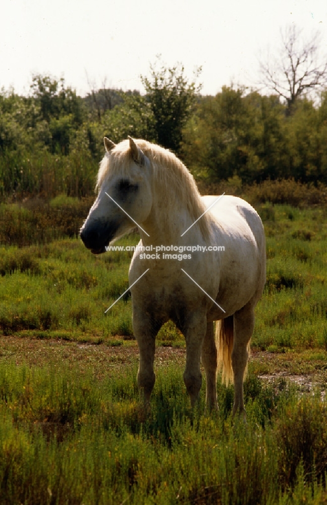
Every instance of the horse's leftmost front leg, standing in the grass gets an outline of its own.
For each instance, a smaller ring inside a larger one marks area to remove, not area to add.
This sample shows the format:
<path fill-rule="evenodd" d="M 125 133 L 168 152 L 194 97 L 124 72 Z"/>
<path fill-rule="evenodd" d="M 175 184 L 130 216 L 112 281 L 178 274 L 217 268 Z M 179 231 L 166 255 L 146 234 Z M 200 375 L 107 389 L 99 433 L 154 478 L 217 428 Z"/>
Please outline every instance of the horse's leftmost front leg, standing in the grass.
<path fill-rule="evenodd" d="M 140 352 L 137 384 L 144 402 L 148 403 L 155 382 L 153 362 L 158 327 L 144 311 L 133 308 L 133 330 Z"/>

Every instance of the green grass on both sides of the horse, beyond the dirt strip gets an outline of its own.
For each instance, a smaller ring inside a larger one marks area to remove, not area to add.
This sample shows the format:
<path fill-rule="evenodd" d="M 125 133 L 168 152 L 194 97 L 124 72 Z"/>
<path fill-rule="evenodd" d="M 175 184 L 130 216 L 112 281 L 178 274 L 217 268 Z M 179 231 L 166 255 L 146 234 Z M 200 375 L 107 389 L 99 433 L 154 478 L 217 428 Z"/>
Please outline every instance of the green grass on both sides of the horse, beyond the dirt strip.
<path fill-rule="evenodd" d="M 68 205 L 69 198 L 62 200 Z M 274 345 L 326 349 L 326 211 L 271 204 L 257 209 L 266 232 L 267 282 L 252 343 L 263 350 Z M 119 244 L 137 241 L 131 235 Z M 5 335 L 34 331 L 50 337 L 61 331 L 65 338 L 85 341 L 132 337 L 128 295 L 104 314 L 128 287 L 131 252 L 94 257 L 78 238 L 4 246 L 0 252 L 0 330 Z M 183 336 L 168 323 L 158 340 L 169 345 L 183 342 Z"/>

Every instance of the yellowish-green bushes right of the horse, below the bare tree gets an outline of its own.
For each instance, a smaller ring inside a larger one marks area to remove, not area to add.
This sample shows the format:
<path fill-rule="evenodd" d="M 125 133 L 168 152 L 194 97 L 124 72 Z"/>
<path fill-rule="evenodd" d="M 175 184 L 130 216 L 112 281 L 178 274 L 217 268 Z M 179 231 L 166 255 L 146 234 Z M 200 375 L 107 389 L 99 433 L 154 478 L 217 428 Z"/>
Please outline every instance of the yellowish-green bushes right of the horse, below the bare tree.
<path fill-rule="evenodd" d="M 223 87 L 199 100 L 181 149 L 188 166 L 214 181 L 327 183 L 327 92 L 319 106 L 299 99 L 289 115 L 276 95 Z"/>

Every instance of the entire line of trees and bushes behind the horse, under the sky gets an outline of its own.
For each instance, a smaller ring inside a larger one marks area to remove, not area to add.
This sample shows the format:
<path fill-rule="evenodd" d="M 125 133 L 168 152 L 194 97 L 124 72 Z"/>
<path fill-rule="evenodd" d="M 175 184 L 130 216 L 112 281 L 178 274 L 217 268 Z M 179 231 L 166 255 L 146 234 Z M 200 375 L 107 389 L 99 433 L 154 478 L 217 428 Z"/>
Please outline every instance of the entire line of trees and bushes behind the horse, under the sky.
<path fill-rule="evenodd" d="M 181 64 L 169 68 L 160 59 L 141 77 L 144 95 L 104 82 L 81 97 L 63 78 L 44 75 L 32 78 L 29 96 L 2 89 L 0 194 L 89 194 L 103 136 L 117 143 L 128 135 L 173 150 L 209 182 L 237 176 L 246 184 L 280 178 L 326 184 L 327 67 L 310 70 L 316 46 L 311 40 L 297 53 L 296 35 L 289 32 L 281 64 L 289 90 L 261 64 L 271 92 L 231 85 L 203 96 L 201 68 L 189 80 Z M 305 94 L 317 87 L 318 100 Z"/>

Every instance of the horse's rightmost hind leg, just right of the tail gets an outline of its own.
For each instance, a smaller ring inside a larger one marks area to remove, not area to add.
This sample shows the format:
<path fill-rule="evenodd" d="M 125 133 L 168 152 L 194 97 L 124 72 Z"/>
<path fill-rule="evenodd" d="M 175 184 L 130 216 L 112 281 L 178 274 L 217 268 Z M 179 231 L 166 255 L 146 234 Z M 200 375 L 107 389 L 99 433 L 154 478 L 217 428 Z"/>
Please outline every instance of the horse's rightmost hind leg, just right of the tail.
<path fill-rule="evenodd" d="M 234 372 L 235 398 L 233 415 L 237 412 L 245 415 L 243 381 L 248 361 L 247 346 L 254 330 L 254 306 L 249 302 L 234 314 L 234 346 L 232 367 Z"/>

